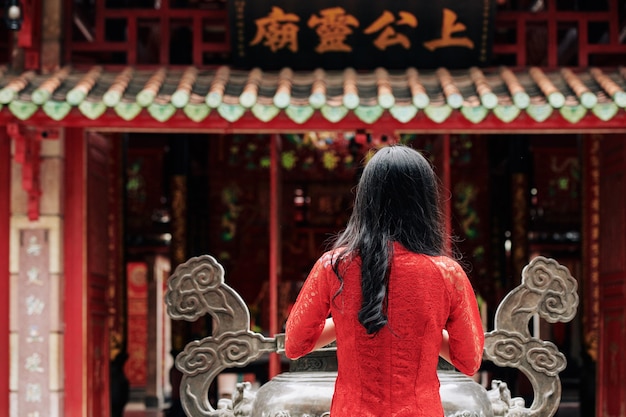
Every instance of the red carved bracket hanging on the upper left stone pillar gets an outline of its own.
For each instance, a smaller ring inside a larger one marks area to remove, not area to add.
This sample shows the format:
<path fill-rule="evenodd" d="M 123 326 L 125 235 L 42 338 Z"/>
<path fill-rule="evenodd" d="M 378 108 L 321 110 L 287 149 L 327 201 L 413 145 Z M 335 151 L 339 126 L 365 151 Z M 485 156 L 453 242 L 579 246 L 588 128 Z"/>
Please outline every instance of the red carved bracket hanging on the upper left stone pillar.
<path fill-rule="evenodd" d="M 28 193 L 28 219 L 39 219 L 39 173 L 41 170 L 41 136 L 24 130 L 17 123 L 7 125 L 7 133 L 15 141 L 15 161 L 22 164 L 22 188 Z"/>

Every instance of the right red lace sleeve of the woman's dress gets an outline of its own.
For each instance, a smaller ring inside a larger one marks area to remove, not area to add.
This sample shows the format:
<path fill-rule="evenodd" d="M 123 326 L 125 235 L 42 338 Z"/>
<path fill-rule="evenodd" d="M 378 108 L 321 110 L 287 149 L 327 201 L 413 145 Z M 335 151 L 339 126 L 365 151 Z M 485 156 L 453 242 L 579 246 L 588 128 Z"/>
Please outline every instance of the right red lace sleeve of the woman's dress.
<path fill-rule="evenodd" d="M 472 285 L 461 266 L 450 258 L 437 261 L 450 293 L 450 359 L 461 372 L 473 375 L 482 362 L 485 333 Z"/>

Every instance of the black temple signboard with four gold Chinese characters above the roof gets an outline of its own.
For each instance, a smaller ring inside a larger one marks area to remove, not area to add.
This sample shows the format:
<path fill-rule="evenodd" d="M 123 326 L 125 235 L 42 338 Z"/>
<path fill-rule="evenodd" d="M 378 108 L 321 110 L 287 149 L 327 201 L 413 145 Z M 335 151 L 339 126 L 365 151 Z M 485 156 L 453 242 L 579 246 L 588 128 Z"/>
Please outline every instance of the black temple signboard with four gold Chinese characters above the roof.
<path fill-rule="evenodd" d="M 233 64 L 264 69 L 489 65 L 494 0 L 230 0 Z"/>

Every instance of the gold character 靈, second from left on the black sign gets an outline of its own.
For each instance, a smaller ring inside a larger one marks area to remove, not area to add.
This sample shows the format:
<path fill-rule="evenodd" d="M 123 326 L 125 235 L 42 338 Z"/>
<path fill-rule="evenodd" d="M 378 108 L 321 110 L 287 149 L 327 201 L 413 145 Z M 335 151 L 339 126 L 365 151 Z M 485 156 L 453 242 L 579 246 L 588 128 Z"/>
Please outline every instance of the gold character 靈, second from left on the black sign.
<path fill-rule="evenodd" d="M 308 25 L 315 28 L 320 38 L 320 43 L 315 51 L 324 52 L 350 52 L 352 47 L 345 44 L 348 35 L 352 34 L 352 27 L 358 27 L 359 21 L 352 15 L 346 14 L 341 7 L 332 7 L 320 11 L 320 16 L 311 16 Z"/>

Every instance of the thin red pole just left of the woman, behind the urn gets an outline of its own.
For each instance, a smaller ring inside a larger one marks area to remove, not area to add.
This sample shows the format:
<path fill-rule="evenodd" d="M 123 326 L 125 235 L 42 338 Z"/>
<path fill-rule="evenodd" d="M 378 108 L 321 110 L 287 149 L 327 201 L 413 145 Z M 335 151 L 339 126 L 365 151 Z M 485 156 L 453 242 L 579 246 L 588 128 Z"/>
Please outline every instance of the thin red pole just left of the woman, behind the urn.
<path fill-rule="evenodd" d="M 281 273 L 280 257 L 280 135 L 270 138 L 270 259 L 269 259 L 269 295 L 270 295 L 270 336 L 278 333 L 278 283 Z M 280 357 L 270 354 L 269 377 L 280 373 Z"/>

